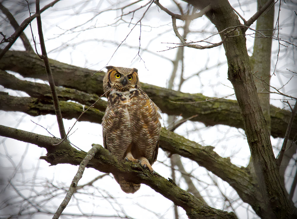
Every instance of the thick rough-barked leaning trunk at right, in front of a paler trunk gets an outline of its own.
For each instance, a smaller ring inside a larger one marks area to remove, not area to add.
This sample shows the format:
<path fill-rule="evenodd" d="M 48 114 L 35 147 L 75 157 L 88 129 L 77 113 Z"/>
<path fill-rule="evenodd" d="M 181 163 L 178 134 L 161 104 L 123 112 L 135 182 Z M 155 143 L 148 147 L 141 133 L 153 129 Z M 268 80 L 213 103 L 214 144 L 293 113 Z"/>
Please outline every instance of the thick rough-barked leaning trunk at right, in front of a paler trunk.
<path fill-rule="evenodd" d="M 198 8 L 205 7 L 205 1 L 187 1 Z M 240 25 L 237 15 L 226 0 L 212 1 L 212 10 L 207 13 L 208 18 L 223 31 L 229 27 Z M 220 33 L 223 39 L 226 33 Z M 264 203 L 267 204 L 263 218 L 293 218 L 294 207 L 287 198 L 284 183 L 278 172 L 272 151 L 270 136 L 259 98 L 252 70 L 247 54 L 246 39 L 241 28 L 229 32 L 224 43 L 228 61 L 228 79 L 234 87 L 235 95 L 244 120 L 252 161 L 260 186 Z"/>

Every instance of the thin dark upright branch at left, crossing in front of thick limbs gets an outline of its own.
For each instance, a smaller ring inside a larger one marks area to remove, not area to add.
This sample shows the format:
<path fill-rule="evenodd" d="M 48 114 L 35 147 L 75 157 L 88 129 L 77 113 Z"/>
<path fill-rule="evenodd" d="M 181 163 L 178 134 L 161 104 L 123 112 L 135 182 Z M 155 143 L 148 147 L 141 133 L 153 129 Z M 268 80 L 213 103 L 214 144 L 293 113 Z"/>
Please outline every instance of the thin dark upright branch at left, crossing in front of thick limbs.
<path fill-rule="evenodd" d="M 59 99 L 58 99 L 58 95 L 56 92 L 56 86 L 55 86 L 55 82 L 53 79 L 52 71 L 50 69 L 50 62 L 49 62 L 48 56 L 46 54 L 45 43 L 44 43 L 44 38 L 43 38 L 43 33 L 42 33 L 39 0 L 36 0 L 36 13 L 35 14 L 37 15 L 37 17 L 36 17 L 37 29 L 38 29 L 38 35 L 39 35 L 39 41 L 40 41 L 40 48 L 42 51 L 42 55 L 40 56 L 40 58 L 43 59 L 43 62 L 45 65 L 45 71 L 48 76 L 48 83 L 50 84 L 50 92 L 53 97 L 53 104 L 54 104 L 54 108 L 55 108 L 55 113 L 56 113 L 56 117 L 57 117 L 60 135 L 61 135 L 61 138 L 64 138 L 64 137 L 66 137 L 66 133 L 65 133 L 65 128 L 64 128 L 64 124 L 63 124 L 63 117 L 61 114 Z"/>

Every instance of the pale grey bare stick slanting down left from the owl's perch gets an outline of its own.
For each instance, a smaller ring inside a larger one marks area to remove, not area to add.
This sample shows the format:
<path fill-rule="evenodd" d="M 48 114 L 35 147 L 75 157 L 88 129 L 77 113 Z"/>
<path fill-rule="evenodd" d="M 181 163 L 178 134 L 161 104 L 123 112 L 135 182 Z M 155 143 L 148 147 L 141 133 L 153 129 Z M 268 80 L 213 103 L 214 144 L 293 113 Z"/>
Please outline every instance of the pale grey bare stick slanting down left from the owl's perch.
<path fill-rule="evenodd" d="M 80 165 L 78 167 L 78 171 L 75 174 L 75 176 L 74 176 L 74 178 L 73 178 L 73 180 L 71 182 L 71 185 L 69 187 L 69 190 L 68 190 L 68 192 L 67 192 L 64 200 L 60 204 L 59 208 L 57 209 L 56 213 L 53 215 L 53 219 L 58 219 L 60 217 L 61 213 L 63 212 L 63 210 L 65 209 L 65 207 L 69 203 L 69 201 L 70 201 L 73 193 L 75 192 L 76 186 L 78 184 L 78 181 L 83 176 L 83 171 L 85 170 L 85 168 L 88 165 L 89 161 L 95 156 L 95 154 L 97 153 L 98 149 L 99 149 L 99 145 L 98 144 L 94 144 L 93 147 L 87 153 L 86 157 L 80 163 Z"/>

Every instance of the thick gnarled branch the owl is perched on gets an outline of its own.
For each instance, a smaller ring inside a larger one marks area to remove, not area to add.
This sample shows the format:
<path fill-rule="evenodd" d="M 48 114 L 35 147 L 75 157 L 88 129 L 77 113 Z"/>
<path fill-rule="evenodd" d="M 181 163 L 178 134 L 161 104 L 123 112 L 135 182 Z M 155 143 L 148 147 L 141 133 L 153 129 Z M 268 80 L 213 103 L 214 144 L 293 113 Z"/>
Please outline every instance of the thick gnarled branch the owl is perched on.
<path fill-rule="evenodd" d="M 65 146 L 65 144 L 63 144 L 64 142 L 57 147 L 52 146 L 53 143 L 59 142 L 58 139 L 9 128 L 3 125 L 0 125 L 0 135 L 46 148 L 48 151 L 47 155 L 40 157 L 40 159 L 49 162 L 51 165 L 61 163 L 79 165 L 86 156 L 84 152 L 77 151 L 67 145 Z M 126 161 L 121 162 L 102 146 L 98 145 L 97 148 L 98 153 L 95 155 L 94 159 L 90 160 L 87 167 L 92 167 L 104 173 L 125 173 L 125 179 L 127 181 L 144 183 L 150 186 L 164 197 L 173 201 L 174 204 L 182 207 L 189 218 L 237 218 L 233 212 L 228 213 L 205 206 L 192 194 L 182 190 L 157 173 L 151 174 L 148 170 L 143 169 L 140 164 Z"/>

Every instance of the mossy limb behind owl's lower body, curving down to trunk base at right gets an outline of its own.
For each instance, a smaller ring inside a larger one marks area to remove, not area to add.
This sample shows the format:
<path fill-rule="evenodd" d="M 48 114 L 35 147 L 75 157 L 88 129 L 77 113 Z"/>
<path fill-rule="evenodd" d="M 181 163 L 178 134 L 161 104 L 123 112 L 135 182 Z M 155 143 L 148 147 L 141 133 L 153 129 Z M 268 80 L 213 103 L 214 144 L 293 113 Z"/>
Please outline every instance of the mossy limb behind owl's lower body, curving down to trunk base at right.
<path fill-rule="evenodd" d="M 4 103 L 0 104 L 0 110 L 12 110 L 13 108 L 33 116 L 55 114 L 52 101 L 45 102 L 31 97 L 13 97 L 4 92 L 0 92 L 0 99 Z M 77 118 L 82 111 L 82 107 L 76 103 L 61 101 L 60 104 L 62 115 L 67 119 Z M 91 108 L 80 120 L 101 123 L 103 115 L 103 112 Z M 220 157 L 213 151 L 214 147 L 201 146 L 165 128 L 161 129 L 159 143 L 164 151 L 187 157 L 228 182 L 241 199 L 249 203 L 253 209 L 258 211 L 263 209 L 264 206 L 260 204 L 261 195 L 257 192 L 257 182 L 247 173 L 247 169 L 239 168 L 233 165 L 230 159 Z"/>

